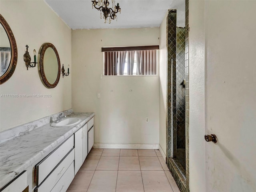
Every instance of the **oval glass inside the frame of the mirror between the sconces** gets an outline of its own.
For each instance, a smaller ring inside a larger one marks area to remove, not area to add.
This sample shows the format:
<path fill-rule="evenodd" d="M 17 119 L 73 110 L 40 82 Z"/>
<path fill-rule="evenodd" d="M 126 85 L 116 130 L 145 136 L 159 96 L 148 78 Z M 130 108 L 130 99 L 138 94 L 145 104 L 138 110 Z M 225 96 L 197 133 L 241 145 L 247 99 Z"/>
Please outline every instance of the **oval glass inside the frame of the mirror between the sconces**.
<path fill-rule="evenodd" d="M 58 60 L 51 47 L 44 53 L 44 73 L 48 82 L 54 84 L 58 77 Z"/>

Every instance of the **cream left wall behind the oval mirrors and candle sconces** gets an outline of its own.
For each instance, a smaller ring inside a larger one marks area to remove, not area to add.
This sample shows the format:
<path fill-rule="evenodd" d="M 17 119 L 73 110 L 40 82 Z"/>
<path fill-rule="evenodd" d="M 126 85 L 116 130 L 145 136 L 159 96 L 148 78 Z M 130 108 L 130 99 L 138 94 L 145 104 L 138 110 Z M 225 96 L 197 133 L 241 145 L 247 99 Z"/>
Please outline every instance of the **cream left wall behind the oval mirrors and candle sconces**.
<path fill-rule="evenodd" d="M 43 43 L 50 42 L 58 50 L 61 64 L 65 68 L 70 64 L 71 68 L 71 29 L 41 0 L 1 0 L 0 13 L 12 28 L 18 47 L 16 70 L 0 86 L 0 94 L 52 95 L 51 98 L 1 97 L 0 131 L 71 108 L 71 76 L 61 76 L 59 84 L 48 89 L 42 84 L 37 67 L 27 70 L 23 61 L 27 44 L 33 60 L 33 50 L 38 53 Z"/>

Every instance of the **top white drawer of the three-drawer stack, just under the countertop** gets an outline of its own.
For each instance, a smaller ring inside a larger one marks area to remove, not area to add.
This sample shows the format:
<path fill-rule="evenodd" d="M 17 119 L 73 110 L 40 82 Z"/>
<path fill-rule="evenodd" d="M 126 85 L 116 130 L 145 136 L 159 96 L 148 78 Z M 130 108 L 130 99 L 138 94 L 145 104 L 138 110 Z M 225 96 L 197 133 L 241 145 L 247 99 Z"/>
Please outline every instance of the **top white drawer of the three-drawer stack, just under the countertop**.
<path fill-rule="evenodd" d="M 58 165 L 58 163 L 68 154 L 74 147 L 74 135 L 66 140 L 59 148 L 54 150 L 48 157 L 36 165 L 37 185 L 50 174 L 50 172 Z"/>

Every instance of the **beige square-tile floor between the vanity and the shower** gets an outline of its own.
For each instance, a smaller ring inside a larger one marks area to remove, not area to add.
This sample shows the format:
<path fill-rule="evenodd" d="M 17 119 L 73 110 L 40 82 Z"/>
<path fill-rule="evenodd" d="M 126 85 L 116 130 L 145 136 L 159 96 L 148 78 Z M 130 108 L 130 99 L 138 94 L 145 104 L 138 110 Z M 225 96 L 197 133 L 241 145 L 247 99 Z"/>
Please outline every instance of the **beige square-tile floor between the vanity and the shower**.
<path fill-rule="evenodd" d="M 67 192 L 180 192 L 159 150 L 92 149 Z"/>

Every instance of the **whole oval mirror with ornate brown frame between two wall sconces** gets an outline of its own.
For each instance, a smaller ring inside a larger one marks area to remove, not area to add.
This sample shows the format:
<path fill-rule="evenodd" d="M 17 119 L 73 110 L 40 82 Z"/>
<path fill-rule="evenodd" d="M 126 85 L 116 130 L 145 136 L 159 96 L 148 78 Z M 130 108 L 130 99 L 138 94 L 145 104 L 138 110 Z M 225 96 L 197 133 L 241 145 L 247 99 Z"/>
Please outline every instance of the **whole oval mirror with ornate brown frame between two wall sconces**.
<path fill-rule="evenodd" d="M 60 58 L 57 49 L 51 43 L 44 43 L 39 51 L 39 74 L 47 88 L 54 88 L 60 80 Z"/>

